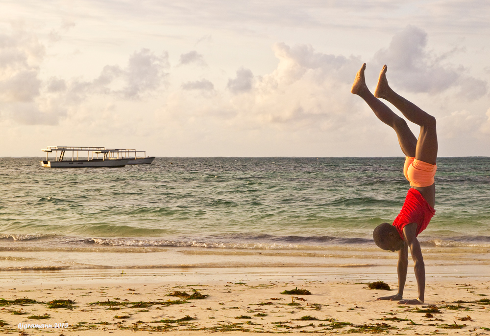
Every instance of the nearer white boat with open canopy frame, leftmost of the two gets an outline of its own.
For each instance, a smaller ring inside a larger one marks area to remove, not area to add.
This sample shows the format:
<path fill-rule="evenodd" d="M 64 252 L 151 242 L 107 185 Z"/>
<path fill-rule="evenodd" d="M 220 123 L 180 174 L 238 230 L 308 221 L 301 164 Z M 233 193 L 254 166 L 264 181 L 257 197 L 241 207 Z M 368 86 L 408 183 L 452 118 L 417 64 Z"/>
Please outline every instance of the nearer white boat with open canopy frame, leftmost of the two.
<path fill-rule="evenodd" d="M 41 161 L 45 168 L 87 168 L 87 167 L 124 167 L 129 158 L 120 158 L 110 155 L 110 150 L 105 147 L 70 147 L 49 146 L 42 149 L 46 152 L 46 160 Z M 48 154 L 56 152 L 54 161 L 48 159 Z M 58 156 L 59 152 L 59 156 Z M 65 158 L 66 152 L 72 152 L 72 157 Z M 86 153 L 86 156 L 80 156 Z M 99 157 L 101 155 L 101 157 Z"/>

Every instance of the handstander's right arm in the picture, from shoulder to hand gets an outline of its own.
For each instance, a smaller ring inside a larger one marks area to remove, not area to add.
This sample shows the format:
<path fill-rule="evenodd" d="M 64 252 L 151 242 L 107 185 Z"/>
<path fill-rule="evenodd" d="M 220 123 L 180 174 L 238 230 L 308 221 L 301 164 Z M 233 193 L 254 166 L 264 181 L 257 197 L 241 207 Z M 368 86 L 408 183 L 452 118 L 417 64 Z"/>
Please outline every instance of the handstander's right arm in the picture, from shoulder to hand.
<path fill-rule="evenodd" d="M 398 303 L 418 305 L 424 302 L 425 295 L 425 264 L 422 250 L 417 240 L 417 224 L 411 223 L 403 228 L 403 236 L 414 259 L 415 277 L 417 278 L 418 298 L 415 300 L 402 300 Z M 419 301 L 420 300 L 420 301 Z"/>

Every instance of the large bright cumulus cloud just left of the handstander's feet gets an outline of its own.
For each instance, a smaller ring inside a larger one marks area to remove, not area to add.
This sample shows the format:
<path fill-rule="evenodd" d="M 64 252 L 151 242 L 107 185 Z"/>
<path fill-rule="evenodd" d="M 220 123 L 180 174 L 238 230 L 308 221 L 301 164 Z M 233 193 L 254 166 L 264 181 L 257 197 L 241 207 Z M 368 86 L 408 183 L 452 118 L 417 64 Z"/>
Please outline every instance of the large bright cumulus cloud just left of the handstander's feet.
<path fill-rule="evenodd" d="M 355 110 L 348 89 L 360 60 L 316 52 L 311 45 L 280 43 L 273 49 L 279 64 L 272 73 L 252 78 L 241 69 L 232 82 L 232 92 L 248 91 L 232 100 L 241 116 L 293 129 L 343 127 L 347 111 Z"/>

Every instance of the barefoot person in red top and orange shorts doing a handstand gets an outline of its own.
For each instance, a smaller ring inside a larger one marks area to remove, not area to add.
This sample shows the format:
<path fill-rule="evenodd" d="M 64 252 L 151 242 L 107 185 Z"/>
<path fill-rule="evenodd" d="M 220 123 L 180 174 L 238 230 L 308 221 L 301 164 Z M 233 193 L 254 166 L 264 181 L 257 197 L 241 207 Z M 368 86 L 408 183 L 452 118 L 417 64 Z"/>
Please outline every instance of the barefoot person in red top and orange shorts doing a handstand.
<path fill-rule="evenodd" d="M 425 266 L 417 236 L 427 227 L 435 213 L 436 119 L 395 93 L 388 86 L 386 66 L 379 74 L 378 85 L 373 95 L 366 86 L 365 69 L 366 63 L 357 73 L 351 92 L 363 98 L 378 119 L 392 127 L 396 132 L 401 150 L 406 156 L 403 173 L 411 185 L 400 214 L 393 224 L 380 224 L 373 232 L 374 242 L 378 247 L 384 250 L 398 251 L 398 293 L 380 297 L 378 300 L 397 300 L 401 304 L 422 304 L 425 293 Z M 407 122 L 392 112 L 378 98 L 389 101 L 402 112 L 405 118 L 420 126 L 418 139 L 408 128 Z M 417 299 L 403 300 L 409 247 L 415 263 L 418 297 Z"/>

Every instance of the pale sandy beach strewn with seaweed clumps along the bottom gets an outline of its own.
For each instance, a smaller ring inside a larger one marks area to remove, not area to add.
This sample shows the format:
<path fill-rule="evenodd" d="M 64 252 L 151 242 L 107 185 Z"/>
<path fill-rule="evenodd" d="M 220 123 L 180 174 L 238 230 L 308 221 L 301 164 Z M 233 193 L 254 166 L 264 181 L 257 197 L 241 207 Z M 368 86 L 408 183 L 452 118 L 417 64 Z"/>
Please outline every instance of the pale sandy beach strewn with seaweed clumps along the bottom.
<path fill-rule="evenodd" d="M 396 274 L 379 275 L 354 268 L 2 272 L 0 330 L 73 336 L 490 335 L 488 275 L 429 274 L 425 304 L 417 307 L 377 301 L 392 292 L 369 290 L 368 282 L 379 278 L 396 289 Z M 311 294 L 283 294 L 296 288 Z M 409 275 L 404 296 L 415 297 L 416 291 Z"/>

